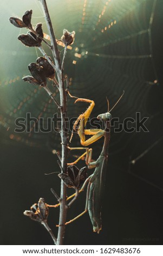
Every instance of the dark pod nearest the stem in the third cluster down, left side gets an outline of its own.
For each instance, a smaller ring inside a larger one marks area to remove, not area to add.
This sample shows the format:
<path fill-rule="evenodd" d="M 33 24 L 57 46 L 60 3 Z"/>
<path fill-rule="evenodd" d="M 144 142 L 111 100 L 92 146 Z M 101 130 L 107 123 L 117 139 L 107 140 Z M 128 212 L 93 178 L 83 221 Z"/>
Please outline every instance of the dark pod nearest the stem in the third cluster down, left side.
<path fill-rule="evenodd" d="M 49 59 L 51 60 L 51 62 L 53 63 L 52 59 L 49 57 Z M 53 66 L 50 65 L 50 63 L 48 62 L 47 59 L 45 59 L 44 57 L 39 57 L 36 60 L 36 63 L 39 66 L 42 66 L 43 68 L 43 72 L 45 74 L 45 76 L 51 80 L 54 79 L 55 77 L 55 70 L 53 68 Z"/>

